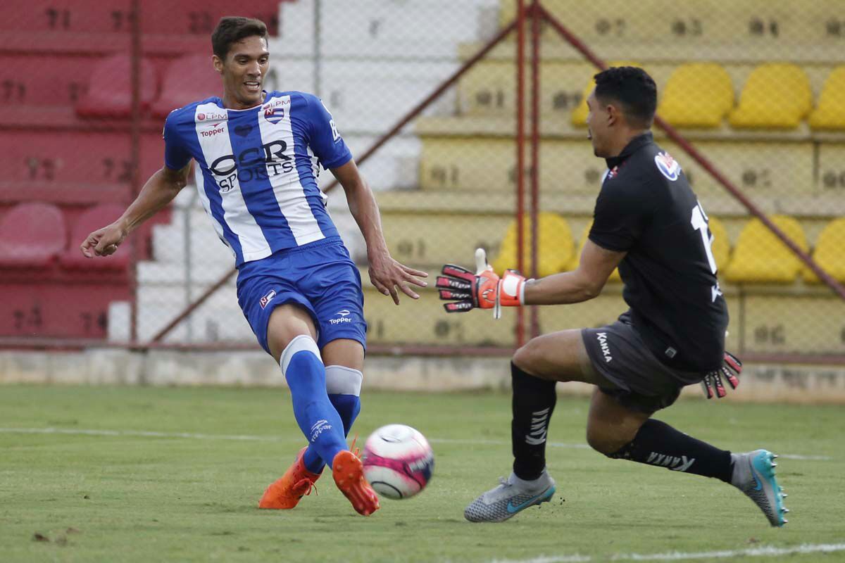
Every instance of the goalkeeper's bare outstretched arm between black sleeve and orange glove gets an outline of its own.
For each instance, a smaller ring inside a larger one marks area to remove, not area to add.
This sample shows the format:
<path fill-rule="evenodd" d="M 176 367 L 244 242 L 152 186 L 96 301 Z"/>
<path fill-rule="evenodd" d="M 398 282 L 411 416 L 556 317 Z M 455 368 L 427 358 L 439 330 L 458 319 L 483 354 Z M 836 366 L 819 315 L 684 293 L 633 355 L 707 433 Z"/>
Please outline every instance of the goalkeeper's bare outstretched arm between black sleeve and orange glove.
<path fill-rule="evenodd" d="M 564 305 L 597 297 L 625 252 L 613 252 L 587 240 L 578 268 L 526 281 L 523 305 Z"/>

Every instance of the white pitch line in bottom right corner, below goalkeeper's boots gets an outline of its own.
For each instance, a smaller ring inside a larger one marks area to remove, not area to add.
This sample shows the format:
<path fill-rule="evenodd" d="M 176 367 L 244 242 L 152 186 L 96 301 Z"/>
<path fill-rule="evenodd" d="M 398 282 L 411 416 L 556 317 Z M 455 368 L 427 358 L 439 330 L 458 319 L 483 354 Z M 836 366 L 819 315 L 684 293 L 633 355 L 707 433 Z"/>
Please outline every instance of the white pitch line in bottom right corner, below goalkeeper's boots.
<path fill-rule="evenodd" d="M 749 549 L 725 549 L 722 551 L 668 553 L 620 553 L 606 557 L 591 555 L 542 555 L 532 559 L 495 559 L 490 563 L 587 563 L 589 561 L 682 561 L 689 559 L 734 559 L 736 557 L 779 557 L 781 555 L 808 555 L 814 553 L 834 553 L 845 551 L 845 544 L 801 544 L 794 547 L 774 547 L 764 545 Z"/>

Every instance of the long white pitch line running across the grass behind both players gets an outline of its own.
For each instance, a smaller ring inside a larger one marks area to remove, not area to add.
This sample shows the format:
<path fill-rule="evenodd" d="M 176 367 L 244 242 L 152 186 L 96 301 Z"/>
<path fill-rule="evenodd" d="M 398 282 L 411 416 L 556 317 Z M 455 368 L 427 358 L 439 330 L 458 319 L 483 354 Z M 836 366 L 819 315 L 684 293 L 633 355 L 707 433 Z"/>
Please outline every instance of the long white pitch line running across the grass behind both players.
<path fill-rule="evenodd" d="M 300 438 L 281 438 L 279 436 L 248 436 L 244 434 L 198 434 L 194 432 L 158 432 L 155 430 L 85 430 L 79 428 L 0 428 L 0 434 L 66 434 L 79 436 L 139 436 L 143 438 L 186 438 L 189 440 L 230 440 L 230 441 L 300 441 Z M 433 438 L 433 444 L 462 444 L 466 446 L 510 446 L 504 440 L 452 440 Z M 559 441 L 547 442 L 548 447 L 561 447 L 575 450 L 588 450 L 586 444 L 565 444 Z M 778 454 L 784 459 L 803 461 L 831 461 L 827 456 L 803 456 L 798 454 Z"/>

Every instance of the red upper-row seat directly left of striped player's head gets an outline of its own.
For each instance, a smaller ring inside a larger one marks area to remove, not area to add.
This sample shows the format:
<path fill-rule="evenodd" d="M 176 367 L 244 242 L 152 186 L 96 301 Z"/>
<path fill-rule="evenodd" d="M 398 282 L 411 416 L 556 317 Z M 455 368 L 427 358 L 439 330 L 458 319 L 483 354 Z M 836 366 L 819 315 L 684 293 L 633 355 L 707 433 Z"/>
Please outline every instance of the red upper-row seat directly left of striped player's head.
<path fill-rule="evenodd" d="M 152 113 L 166 117 L 178 107 L 220 95 L 223 90 L 220 74 L 211 66 L 208 53 L 186 55 L 170 63 L 161 84 L 161 96 L 155 100 Z"/>

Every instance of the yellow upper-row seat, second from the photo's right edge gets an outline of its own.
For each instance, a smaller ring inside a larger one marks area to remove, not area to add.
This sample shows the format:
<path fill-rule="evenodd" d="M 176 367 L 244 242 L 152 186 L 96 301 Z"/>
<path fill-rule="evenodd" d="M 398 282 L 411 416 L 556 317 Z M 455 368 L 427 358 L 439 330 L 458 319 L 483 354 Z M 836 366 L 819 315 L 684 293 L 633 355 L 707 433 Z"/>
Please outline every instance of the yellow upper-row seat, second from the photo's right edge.
<path fill-rule="evenodd" d="M 798 127 L 813 107 L 810 78 L 794 64 L 766 63 L 755 68 L 731 112 L 733 127 Z"/>

